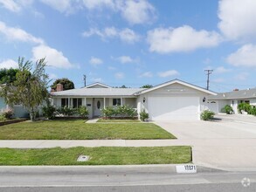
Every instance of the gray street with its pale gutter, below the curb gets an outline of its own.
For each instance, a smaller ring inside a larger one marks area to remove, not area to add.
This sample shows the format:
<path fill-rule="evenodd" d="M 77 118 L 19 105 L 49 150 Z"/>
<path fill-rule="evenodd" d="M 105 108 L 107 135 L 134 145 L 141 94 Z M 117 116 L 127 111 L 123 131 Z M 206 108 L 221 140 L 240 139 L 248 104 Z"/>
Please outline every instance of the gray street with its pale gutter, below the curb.
<path fill-rule="evenodd" d="M 176 174 L 159 168 L 146 172 L 140 168 L 38 172 L 32 167 L 18 171 L 2 168 L 0 191 L 256 191 L 256 172 Z"/>

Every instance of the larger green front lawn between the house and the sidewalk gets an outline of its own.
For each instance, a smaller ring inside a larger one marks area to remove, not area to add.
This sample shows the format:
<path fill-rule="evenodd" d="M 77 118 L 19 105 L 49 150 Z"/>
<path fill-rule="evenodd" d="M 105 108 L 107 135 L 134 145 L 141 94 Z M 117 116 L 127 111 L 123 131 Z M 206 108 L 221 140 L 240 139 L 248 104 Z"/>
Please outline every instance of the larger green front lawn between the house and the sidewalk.
<path fill-rule="evenodd" d="M 0 140 L 153 140 L 176 137 L 153 123 L 101 124 L 84 120 L 25 121 L 0 127 Z"/>

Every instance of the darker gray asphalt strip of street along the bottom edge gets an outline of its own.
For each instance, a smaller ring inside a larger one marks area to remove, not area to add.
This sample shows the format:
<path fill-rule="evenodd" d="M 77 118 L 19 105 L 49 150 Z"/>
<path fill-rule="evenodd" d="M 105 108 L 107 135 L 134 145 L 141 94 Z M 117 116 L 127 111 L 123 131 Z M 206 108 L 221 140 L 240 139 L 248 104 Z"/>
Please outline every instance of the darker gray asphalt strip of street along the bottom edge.
<path fill-rule="evenodd" d="M 156 191 L 193 191 L 193 192 L 255 192 L 255 188 L 242 187 L 240 183 L 214 183 L 195 185 L 150 185 L 150 186 L 104 186 L 104 187 L 34 187 L 34 188 L 2 188 L 1 192 L 156 192 Z"/>

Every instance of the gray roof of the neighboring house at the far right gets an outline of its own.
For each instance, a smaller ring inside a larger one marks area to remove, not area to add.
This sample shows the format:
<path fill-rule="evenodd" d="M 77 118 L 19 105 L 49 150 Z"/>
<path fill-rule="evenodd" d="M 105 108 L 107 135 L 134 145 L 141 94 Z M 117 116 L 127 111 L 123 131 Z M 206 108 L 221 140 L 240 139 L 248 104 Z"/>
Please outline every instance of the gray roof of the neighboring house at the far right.
<path fill-rule="evenodd" d="M 256 88 L 232 91 L 227 93 L 218 93 L 216 96 L 210 96 L 209 99 L 249 99 L 256 98 Z"/>

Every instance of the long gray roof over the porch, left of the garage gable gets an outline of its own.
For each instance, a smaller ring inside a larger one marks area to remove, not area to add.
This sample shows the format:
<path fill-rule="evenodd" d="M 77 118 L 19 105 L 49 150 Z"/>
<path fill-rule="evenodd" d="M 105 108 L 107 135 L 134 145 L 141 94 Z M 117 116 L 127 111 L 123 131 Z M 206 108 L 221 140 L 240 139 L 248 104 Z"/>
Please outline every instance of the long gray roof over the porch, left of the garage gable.
<path fill-rule="evenodd" d="M 52 96 L 78 96 L 78 97 L 89 97 L 89 96 L 135 96 L 135 93 L 140 92 L 142 88 L 80 88 L 71 89 L 62 92 L 52 93 Z"/>

